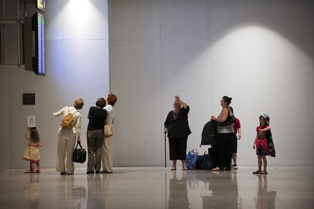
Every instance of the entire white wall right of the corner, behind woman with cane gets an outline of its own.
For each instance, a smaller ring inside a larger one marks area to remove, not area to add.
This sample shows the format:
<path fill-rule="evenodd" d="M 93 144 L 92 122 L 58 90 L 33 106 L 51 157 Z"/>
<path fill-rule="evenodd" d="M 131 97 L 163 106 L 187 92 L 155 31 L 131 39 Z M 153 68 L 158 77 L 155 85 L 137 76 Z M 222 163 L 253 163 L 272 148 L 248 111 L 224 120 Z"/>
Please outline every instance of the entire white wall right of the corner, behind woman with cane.
<path fill-rule="evenodd" d="M 277 153 L 268 164 L 313 165 L 313 8 L 292 0 L 109 1 L 114 164 L 164 165 L 174 95 L 191 108 L 187 151 L 203 154 L 203 126 L 227 95 L 242 125 L 238 164 L 257 164 L 252 145 L 267 114 Z M 170 165 L 168 140 L 166 153 Z"/>

